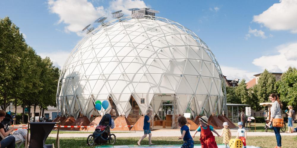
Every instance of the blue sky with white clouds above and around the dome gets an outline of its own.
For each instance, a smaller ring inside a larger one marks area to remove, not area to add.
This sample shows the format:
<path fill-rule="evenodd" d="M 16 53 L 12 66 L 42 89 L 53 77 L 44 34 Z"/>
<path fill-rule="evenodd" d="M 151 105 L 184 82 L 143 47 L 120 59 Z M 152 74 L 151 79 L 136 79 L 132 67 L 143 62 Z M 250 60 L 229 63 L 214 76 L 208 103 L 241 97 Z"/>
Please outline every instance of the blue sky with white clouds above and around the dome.
<path fill-rule="evenodd" d="M 297 1 L 50 0 L 0 1 L 27 44 L 56 66 L 83 37 L 80 30 L 102 15 L 132 7 L 151 7 L 157 16 L 194 31 L 212 50 L 228 79 L 252 79 L 265 68 L 297 67 Z M 129 15 L 129 12 L 125 12 Z"/>

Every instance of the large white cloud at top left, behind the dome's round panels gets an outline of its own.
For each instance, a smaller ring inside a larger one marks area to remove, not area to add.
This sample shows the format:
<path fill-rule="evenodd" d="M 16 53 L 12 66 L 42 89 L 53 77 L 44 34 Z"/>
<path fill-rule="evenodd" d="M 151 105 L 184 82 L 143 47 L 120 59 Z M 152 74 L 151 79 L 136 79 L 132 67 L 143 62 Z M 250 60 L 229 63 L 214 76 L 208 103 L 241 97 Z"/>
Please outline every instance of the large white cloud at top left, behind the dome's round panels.
<path fill-rule="evenodd" d="M 131 15 L 128 8 L 144 8 L 148 7 L 140 0 L 113 0 L 109 2 L 109 7 L 94 7 L 87 0 L 49 0 L 48 8 L 51 13 L 59 16 L 58 23 L 64 23 L 65 32 L 75 32 L 78 36 L 84 36 L 81 30 L 94 20 L 105 15 L 111 19 L 111 12 L 123 10 L 125 15 Z"/>

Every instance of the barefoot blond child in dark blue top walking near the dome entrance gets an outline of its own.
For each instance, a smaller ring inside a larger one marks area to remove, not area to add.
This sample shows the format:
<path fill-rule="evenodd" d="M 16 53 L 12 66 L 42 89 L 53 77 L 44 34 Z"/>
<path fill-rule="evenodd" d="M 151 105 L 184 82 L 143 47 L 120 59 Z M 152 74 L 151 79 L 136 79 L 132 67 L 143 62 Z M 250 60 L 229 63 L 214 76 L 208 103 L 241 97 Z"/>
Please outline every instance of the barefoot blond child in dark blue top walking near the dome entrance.
<path fill-rule="evenodd" d="M 153 110 L 148 109 L 146 110 L 146 114 L 144 116 L 144 120 L 143 120 L 143 131 L 144 131 L 144 135 L 142 137 L 140 137 L 139 141 L 137 142 L 138 145 L 140 145 L 140 142 L 147 136 L 149 135 L 149 145 L 155 145 L 153 143 L 151 143 L 151 130 L 150 130 L 150 122 L 151 122 L 151 115 L 153 114 Z"/>

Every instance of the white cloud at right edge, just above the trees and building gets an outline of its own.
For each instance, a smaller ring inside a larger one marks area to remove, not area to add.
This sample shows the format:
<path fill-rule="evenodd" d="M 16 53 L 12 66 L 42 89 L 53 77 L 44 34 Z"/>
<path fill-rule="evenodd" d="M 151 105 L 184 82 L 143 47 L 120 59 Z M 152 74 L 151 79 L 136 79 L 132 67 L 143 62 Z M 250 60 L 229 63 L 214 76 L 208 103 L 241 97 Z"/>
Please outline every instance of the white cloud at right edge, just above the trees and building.
<path fill-rule="evenodd" d="M 278 46 L 276 55 L 262 56 L 253 60 L 253 64 L 271 72 L 285 72 L 288 67 L 297 67 L 297 42 Z"/>

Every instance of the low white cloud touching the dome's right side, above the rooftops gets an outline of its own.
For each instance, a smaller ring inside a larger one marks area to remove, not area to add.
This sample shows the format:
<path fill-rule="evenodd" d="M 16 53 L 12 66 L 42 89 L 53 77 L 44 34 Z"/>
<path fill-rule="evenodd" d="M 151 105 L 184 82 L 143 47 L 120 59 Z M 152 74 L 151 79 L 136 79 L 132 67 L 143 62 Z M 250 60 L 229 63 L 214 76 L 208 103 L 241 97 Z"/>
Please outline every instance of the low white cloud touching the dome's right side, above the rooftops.
<path fill-rule="evenodd" d="M 239 69 L 236 67 L 220 66 L 223 75 L 227 77 L 228 80 L 233 80 L 238 78 L 240 80 L 245 79 L 247 82 L 255 78 L 255 74 L 259 72 L 250 72 L 248 70 Z"/>

